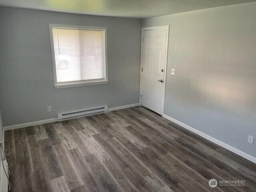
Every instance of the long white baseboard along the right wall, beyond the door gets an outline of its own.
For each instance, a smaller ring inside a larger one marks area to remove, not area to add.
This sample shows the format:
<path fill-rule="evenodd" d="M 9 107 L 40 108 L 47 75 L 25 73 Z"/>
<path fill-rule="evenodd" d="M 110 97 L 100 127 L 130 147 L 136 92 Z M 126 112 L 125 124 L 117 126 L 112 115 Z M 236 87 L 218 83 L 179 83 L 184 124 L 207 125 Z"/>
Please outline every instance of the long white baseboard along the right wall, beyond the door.
<path fill-rule="evenodd" d="M 187 130 L 190 130 L 191 132 L 193 132 L 195 134 L 198 134 L 199 136 L 201 136 L 201 137 L 203 137 L 203 138 L 205 138 L 207 140 L 210 140 L 211 142 L 214 142 L 215 144 L 217 144 L 219 146 L 222 146 L 223 148 L 225 148 L 227 150 L 230 150 L 231 152 L 233 152 L 235 154 L 238 154 L 239 156 L 242 156 L 243 158 L 248 159 L 251 162 L 256 163 L 256 158 L 255 157 L 253 157 L 253 156 L 251 156 L 251 155 L 249 155 L 249 154 L 247 154 L 245 152 L 242 152 L 241 150 L 239 150 L 237 148 L 234 148 L 234 147 L 232 147 L 232 146 L 230 146 L 230 145 L 228 145 L 228 144 L 226 144 L 226 143 L 224 143 L 224 142 L 222 142 L 222 141 L 220 141 L 220 140 L 218 140 L 216 138 L 213 138 L 210 135 L 207 135 L 207 134 L 205 134 L 205 133 L 203 133 L 201 131 L 198 131 L 195 128 L 192 128 L 192 127 L 190 127 L 190 126 L 188 126 L 188 125 L 186 125 L 186 124 L 184 124 L 182 122 L 179 122 L 178 120 L 176 120 L 174 118 L 171 118 L 171 117 L 169 117 L 169 116 L 167 116 L 165 114 L 163 114 L 162 117 L 166 118 L 167 120 L 169 120 L 171 122 L 176 123 L 179 126 L 182 126 L 183 128 L 185 128 Z"/>

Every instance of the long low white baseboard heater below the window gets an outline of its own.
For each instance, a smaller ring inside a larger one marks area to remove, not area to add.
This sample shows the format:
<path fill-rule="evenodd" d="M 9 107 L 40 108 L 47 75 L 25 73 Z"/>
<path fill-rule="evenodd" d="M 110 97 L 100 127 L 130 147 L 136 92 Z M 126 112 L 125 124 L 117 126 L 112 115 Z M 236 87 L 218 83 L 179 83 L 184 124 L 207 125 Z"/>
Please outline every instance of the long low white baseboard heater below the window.
<path fill-rule="evenodd" d="M 89 108 L 79 111 L 72 111 L 67 113 L 59 113 L 58 114 L 58 121 L 64 121 L 68 119 L 74 119 L 79 117 L 85 117 L 89 115 L 95 115 L 100 113 L 108 112 L 108 106 L 96 107 L 96 108 Z"/>

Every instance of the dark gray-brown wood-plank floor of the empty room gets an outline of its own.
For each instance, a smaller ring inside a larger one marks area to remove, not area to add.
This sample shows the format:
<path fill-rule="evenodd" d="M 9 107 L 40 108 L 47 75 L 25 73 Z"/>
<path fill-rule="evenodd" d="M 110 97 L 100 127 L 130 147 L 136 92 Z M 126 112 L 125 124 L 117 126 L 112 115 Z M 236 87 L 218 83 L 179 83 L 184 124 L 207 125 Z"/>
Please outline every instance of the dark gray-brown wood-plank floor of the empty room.
<path fill-rule="evenodd" d="M 6 131 L 5 155 L 12 192 L 256 191 L 256 164 L 143 107 Z"/>

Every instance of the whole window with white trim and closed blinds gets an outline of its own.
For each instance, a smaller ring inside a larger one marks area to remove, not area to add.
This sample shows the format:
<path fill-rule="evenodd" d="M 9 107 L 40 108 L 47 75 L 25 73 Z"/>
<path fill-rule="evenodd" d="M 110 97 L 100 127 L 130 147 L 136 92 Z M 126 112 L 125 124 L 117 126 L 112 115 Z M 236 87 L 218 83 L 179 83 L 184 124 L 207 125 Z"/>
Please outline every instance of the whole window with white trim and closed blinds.
<path fill-rule="evenodd" d="M 55 88 L 108 82 L 106 28 L 50 24 Z"/>

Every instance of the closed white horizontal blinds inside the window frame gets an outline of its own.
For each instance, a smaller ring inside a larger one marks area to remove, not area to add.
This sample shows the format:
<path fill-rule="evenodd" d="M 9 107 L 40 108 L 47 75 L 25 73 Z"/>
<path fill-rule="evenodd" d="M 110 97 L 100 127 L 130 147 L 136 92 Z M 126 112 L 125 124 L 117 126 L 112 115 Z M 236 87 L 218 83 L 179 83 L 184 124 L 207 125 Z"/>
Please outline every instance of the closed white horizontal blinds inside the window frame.
<path fill-rule="evenodd" d="M 57 82 L 104 79 L 103 30 L 53 28 Z"/>

